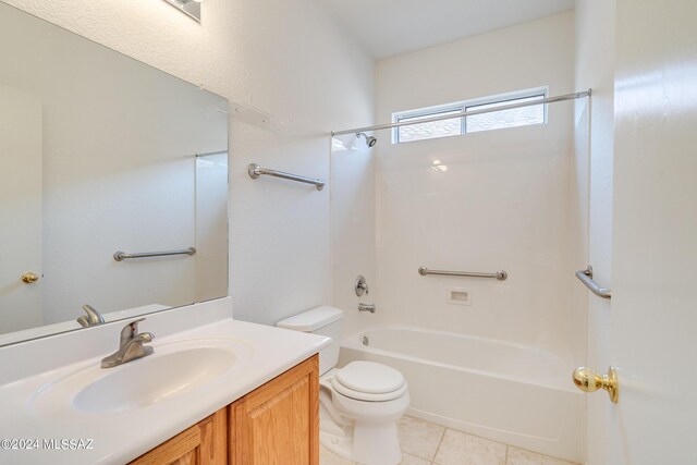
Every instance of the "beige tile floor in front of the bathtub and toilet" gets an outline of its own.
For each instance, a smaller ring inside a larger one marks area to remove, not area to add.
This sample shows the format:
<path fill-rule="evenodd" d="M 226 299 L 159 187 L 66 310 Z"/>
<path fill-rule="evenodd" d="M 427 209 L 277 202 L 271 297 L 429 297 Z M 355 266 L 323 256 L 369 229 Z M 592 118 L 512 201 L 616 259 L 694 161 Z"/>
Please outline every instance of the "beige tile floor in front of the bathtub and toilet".
<path fill-rule="evenodd" d="M 399 423 L 401 465 L 575 465 L 535 452 L 404 416 Z M 320 465 L 355 465 L 320 446 Z"/>

